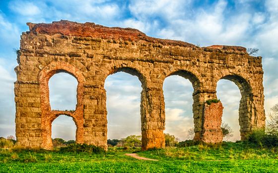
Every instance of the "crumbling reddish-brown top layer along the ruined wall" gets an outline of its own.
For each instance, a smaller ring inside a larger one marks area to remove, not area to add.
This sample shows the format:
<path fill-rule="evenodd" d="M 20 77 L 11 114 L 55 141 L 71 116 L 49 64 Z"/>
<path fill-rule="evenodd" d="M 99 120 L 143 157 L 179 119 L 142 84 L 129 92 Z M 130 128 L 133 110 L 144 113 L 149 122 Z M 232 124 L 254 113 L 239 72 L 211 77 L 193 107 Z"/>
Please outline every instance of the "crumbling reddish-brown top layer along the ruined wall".
<path fill-rule="evenodd" d="M 146 36 L 144 33 L 137 29 L 132 28 L 120 28 L 120 27 L 106 27 L 97 25 L 95 23 L 77 23 L 68 20 L 61 20 L 58 22 L 46 23 L 27 23 L 31 33 L 41 34 L 62 34 L 66 36 L 77 36 L 77 37 L 93 37 L 101 39 L 122 39 L 124 41 L 138 41 L 144 40 L 151 43 L 161 43 L 163 45 L 179 45 L 183 47 L 198 47 L 191 43 L 182 41 L 174 41 L 167 39 L 157 39 Z M 245 51 L 246 48 L 241 46 L 227 46 L 227 45 L 212 45 L 209 48 L 217 49 L 231 49 L 235 51 Z"/>

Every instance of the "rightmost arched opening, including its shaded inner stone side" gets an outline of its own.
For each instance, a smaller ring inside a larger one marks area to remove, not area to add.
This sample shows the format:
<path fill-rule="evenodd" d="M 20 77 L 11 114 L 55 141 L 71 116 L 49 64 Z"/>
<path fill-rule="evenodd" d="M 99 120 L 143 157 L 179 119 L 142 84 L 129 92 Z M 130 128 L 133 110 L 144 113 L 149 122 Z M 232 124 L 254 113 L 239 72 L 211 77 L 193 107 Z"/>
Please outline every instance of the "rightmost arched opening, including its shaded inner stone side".
<path fill-rule="evenodd" d="M 237 75 L 227 75 L 221 79 L 224 80 L 217 82 L 216 95 L 224 107 L 222 123 L 228 124 L 233 131 L 233 136 L 224 136 L 223 140 L 240 140 L 248 129 L 244 124 L 248 124 L 247 117 L 251 114 L 252 89 L 245 79 Z"/>

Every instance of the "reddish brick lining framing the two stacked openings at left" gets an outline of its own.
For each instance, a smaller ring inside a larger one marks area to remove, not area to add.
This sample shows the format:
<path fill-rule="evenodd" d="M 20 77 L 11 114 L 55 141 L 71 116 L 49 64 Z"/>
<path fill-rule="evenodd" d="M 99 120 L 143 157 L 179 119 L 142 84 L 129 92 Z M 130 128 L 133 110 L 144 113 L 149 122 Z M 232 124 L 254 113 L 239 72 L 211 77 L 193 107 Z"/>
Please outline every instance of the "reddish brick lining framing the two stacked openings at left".
<path fill-rule="evenodd" d="M 77 95 L 76 95 L 76 107 L 74 111 L 62 111 L 62 110 L 51 110 L 49 102 L 49 79 L 61 72 L 66 72 L 72 75 L 78 82 L 77 84 Z M 76 137 L 75 140 L 77 143 L 84 142 L 84 128 L 83 128 L 83 90 L 85 78 L 82 75 L 82 72 L 67 62 L 62 61 L 53 61 L 48 66 L 44 67 L 39 73 L 39 86 L 41 93 L 41 129 L 42 129 L 42 148 L 52 149 L 53 144 L 51 140 L 51 126 L 52 122 L 59 115 L 67 115 L 73 118 L 73 121 L 76 125 Z"/>

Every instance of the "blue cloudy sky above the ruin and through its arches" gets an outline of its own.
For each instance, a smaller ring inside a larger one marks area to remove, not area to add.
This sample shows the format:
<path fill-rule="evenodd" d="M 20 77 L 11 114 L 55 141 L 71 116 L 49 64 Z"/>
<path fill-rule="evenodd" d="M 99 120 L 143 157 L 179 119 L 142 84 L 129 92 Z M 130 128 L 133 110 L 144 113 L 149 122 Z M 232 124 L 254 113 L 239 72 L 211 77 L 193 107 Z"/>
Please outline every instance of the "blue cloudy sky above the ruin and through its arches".
<path fill-rule="evenodd" d="M 15 135 L 13 82 L 17 66 L 13 49 L 19 48 L 26 22 L 51 23 L 70 20 L 105 26 L 131 27 L 148 36 L 181 40 L 200 46 L 212 44 L 259 48 L 263 56 L 265 109 L 278 103 L 278 0 L 0 0 L 0 136 Z M 76 80 L 56 74 L 50 82 L 53 109 L 74 109 Z M 140 91 L 137 77 L 120 72 L 105 81 L 108 138 L 140 134 Z M 180 140 L 193 127 L 192 92 L 189 80 L 166 78 L 164 85 L 166 130 Z M 224 105 L 223 121 L 239 138 L 239 89 L 230 81 L 217 83 Z M 60 116 L 53 122 L 53 137 L 74 139 L 72 119 Z"/>

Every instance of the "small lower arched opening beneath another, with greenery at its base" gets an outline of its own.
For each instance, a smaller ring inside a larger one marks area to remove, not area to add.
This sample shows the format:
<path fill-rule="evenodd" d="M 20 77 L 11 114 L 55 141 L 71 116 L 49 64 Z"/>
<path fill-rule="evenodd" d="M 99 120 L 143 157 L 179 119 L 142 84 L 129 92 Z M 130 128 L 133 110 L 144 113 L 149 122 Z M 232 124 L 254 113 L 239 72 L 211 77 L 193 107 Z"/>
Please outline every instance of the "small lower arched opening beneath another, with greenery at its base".
<path fill-rule="evenodd" d="M 54 147 L 75 142 L 76 126 L 70 116 L 60 115 L 52 122 L 52 143 Z M 60 139 L 63 139 L 60 140 Z"/>

